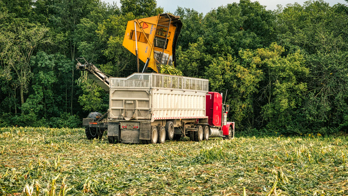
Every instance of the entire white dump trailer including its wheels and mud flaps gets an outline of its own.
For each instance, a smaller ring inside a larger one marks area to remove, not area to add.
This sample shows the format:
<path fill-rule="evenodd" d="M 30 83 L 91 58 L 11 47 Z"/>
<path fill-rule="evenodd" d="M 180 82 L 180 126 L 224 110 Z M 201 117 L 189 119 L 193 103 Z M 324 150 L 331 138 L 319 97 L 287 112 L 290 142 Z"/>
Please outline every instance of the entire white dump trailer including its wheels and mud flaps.
<path fill-rule="evenodd" d="M 163 143 L 166 138 L 185 136 L 185 128 L 203 136 L 203 130 L 185 123 L 207 123 L 208 80 L 134 73 L 126 78 L 111 77 L 110 81 L 107 122 L 111 143 Z"/>

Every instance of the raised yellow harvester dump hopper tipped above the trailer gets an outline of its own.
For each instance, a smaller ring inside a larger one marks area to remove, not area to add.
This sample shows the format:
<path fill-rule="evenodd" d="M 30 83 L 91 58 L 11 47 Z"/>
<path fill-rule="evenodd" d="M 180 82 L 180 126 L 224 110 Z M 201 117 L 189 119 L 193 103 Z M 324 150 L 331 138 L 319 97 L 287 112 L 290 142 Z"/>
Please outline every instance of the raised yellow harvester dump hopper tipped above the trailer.
<path fill-rule="evenodd" d="M 166 42 L 167 47 L 163 50 L 167 32 L 167 27 L 164 26 L 168 26 L 169 24 L 168 16 L 172 18 L 172 22 L 169 25 Z M 136 44 L 134 23 L 136 26 L 136 39 L 139 59 L 143 62 L 146 62 L 147 58 L 150 58 L 148 67 L 150 67 L 157 73 L 157 66 L 159 66 L 160 64 L 172 64 L 175 60 L 173 59 L 173 50 L 175 50 L 175 48 L 173 48 L 173 45 L 175 46 L 176 44 L 173 43 L 173 41 L 175 39 L 175 36 L 176 38 L 178 36 L 175 35 L 175 31 L 177 24 L 180 23 L 181 25 L 179 17 L 170 14 L 159 14 L 158 16 L 128 21 L 122 45 L 135 55 Z M 162 53 L 164 54 L 162 55 Z M 159 62 L 161 59 L 162 62 Z"/>

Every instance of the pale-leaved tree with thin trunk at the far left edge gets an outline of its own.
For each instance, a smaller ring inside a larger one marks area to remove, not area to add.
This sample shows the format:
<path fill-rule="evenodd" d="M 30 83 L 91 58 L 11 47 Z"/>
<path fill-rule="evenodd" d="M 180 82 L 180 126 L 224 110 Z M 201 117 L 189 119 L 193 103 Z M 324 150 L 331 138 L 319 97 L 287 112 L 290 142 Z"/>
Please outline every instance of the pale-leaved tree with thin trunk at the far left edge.
<path fill-rule="evenodd" d="M 24 92 L 32 76 L 29 62 L 38 45 L 50 43 L 48 28 L 29 23 L 25 18 L 10 18 L 6 12 L 0 14 L 0 20 L 6 21 L 0 25 L 2 71 L 8 80 L 15 76 L 23 104 Z M 11 74 L 12 70 L 15 75 Z"/>

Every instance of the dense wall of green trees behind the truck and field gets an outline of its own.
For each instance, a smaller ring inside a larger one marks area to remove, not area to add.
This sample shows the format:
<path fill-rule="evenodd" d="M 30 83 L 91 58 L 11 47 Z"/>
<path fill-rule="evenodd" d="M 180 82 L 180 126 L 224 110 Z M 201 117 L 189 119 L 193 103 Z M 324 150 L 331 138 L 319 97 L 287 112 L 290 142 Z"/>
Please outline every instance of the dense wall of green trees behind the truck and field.
<path fill-rule="evenodd" d="M 136 71 L 122 47 L 127 21 L 163 13 L 154 0 L 0 0 L 0 126 L 79 126 L 108 94 L 79 82 L 84 56 L 111 76 Z M 348 6 L 307 1 L 267 10 L 240 0 L 206 15 L 178 7 L 185 76 L 227 92 L 246 133 L 341 133 L 348 128 Z"/>

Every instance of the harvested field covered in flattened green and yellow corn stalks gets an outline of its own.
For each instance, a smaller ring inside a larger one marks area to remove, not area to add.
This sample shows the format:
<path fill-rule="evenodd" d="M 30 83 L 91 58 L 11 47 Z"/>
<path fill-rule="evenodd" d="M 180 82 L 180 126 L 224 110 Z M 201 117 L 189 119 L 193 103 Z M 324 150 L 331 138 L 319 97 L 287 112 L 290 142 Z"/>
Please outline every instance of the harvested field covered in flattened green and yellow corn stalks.
<path fill-rule="evenodd" d="M 109 144 L 86 140 L 83 129 L 2 128 L 0 193 L 345 195 L 347 144 L 317 136 Z"/>

